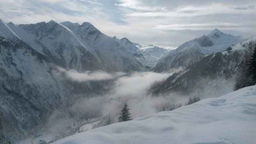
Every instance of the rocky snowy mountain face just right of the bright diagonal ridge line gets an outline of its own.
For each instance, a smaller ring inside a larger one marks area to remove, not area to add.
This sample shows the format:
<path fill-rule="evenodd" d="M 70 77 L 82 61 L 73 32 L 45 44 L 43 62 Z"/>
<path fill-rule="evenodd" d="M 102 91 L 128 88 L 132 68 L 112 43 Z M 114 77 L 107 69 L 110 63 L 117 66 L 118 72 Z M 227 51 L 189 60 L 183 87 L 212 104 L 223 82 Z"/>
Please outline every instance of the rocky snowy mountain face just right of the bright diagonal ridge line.
<path fill-rule="evenodd" d="M 141 71 L 143 65 L 129 51 L 104 35 L 92 24 L 84 22 L 82 25 L 71 22 L 62 22 L 72 34 L 90 52 L 94 54 L 107 71 Z"/>

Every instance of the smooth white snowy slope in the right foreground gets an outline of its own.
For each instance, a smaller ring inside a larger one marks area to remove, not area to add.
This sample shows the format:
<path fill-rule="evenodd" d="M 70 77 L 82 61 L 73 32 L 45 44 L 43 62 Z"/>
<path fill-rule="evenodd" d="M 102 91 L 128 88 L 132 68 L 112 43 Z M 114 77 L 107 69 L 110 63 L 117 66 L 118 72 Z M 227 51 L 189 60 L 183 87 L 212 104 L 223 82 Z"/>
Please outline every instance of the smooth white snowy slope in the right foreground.
<path fill-rule="evenodd" d="M 54 144 L 194 143 L 256 141 L 256 86 L 76 134 Z"/>

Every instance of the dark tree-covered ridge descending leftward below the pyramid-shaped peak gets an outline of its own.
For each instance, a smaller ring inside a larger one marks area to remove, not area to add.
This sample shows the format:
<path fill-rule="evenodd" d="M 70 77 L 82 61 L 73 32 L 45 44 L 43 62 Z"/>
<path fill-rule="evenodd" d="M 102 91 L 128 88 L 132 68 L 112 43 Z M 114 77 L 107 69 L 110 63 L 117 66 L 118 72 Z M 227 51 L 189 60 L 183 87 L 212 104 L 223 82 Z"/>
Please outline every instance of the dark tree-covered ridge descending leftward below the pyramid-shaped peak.
<path fill-rule="evenodd" d="M 230 48 L 228 48 L 230 51 Z M 232 50 L 230 53 L 222 54 L 217 52 L 204 57 L 197 63 L 187 67 L 187 71 L 182 74 L 174 73 L 165 81 L 154 84 L 152 89 L 153 95 L 159 95 L 166 92 L 182 92 L 189 94 L 194 88 L 200 88 L 212 79 L 221 74 L 228 76 L 229 71 L 240 65 L 243 52 L 241 50 Z M 228 77 L 226 77 L 228 78 Z"/>

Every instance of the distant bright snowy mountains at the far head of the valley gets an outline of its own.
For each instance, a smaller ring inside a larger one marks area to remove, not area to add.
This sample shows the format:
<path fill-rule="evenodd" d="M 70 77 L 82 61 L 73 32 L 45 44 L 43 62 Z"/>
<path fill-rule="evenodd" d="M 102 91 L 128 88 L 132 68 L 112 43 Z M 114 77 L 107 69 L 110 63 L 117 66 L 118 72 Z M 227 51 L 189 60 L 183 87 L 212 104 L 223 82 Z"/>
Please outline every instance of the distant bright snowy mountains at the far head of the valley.
<path fill-rule="evenodd" d="M 115 36 L 112 38 L 126 47 L 146 67 L 155 67 L 158 61 L 170 51 L 154 45 L 142 46 L 129 41 L 127 38 L 118 39 Z"/>

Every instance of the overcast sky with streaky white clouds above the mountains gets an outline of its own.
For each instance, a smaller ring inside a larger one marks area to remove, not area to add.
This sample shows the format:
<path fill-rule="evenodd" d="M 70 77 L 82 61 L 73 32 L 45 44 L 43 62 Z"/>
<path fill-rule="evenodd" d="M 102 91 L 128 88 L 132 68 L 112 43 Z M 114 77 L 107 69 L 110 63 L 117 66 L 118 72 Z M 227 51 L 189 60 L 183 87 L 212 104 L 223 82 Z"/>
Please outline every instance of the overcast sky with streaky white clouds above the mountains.
<path fill-rule="evenodd" d="M 251 36 L 255 15 L 255 0 L 0 0 L 4 22 L 90 22 L 109 36 L 171 47 L 215 28 Z"/>

